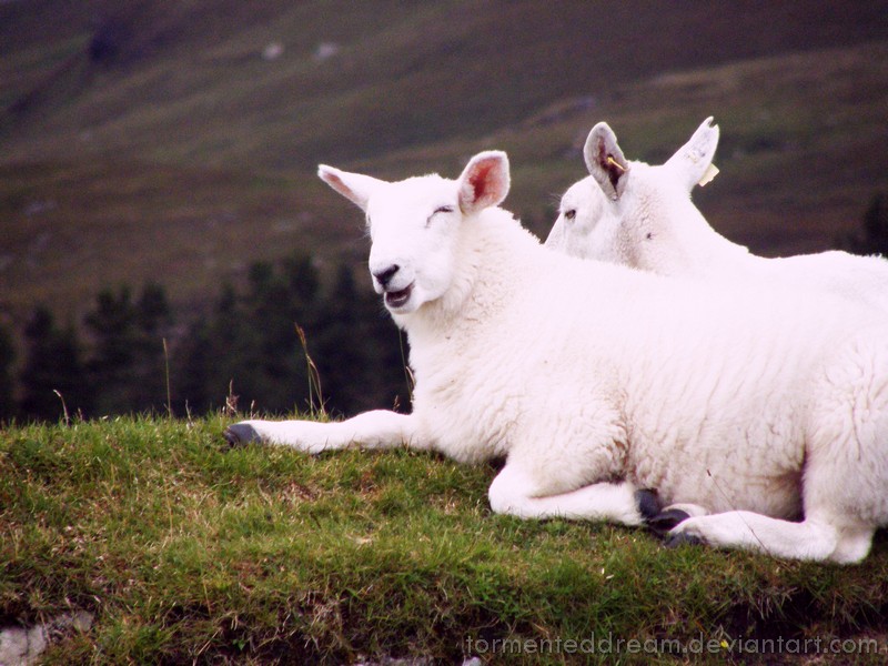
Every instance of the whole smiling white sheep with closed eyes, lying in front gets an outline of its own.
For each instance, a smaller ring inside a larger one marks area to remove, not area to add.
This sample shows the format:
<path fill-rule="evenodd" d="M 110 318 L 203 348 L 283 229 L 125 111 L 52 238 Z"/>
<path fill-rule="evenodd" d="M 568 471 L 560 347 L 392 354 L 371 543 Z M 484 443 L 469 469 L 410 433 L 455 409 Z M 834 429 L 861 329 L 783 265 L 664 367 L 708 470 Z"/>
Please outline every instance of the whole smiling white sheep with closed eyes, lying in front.
<path fill-rule="evenodd" d="M 638 525 L 636 488 L 657 488 L 725 512 L 676 534 L 867 555 L 888 521 L 888 327 L 867 311 L 551 252 L 497 208 L 501 152 L 455 181 L 319 174 L 366 212 L 373 284 L 410 341 L 413 411 L 245 421 L 230 442 L 505 458 L 497 513 Z"/>

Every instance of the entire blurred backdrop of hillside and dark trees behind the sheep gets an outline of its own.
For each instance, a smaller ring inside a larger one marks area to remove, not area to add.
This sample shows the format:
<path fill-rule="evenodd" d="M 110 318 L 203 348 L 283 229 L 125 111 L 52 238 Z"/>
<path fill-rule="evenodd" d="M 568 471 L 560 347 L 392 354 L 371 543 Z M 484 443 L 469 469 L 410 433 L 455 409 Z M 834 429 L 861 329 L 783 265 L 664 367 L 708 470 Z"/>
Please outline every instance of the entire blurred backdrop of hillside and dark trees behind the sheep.
<path fill-rule="evenodd" d="M 595 122 L 662 162 L 708 115 L 716 230 L 885 251 L 885 1 L 0 1 L 0 420 L 407 408 L 319 162 L 506 150 L 545 238 Z"/>

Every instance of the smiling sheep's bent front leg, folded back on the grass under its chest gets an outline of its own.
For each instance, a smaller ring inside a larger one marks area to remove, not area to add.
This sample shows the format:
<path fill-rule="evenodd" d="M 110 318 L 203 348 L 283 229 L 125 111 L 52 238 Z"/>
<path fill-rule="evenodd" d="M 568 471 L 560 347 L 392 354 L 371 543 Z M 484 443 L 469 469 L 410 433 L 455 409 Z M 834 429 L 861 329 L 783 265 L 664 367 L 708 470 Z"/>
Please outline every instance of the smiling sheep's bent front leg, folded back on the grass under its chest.
<path fill-rule="evenodd" d="M 488 491 L 494 513 L 521 518 L 608 521 L 640 525 L 636 487 L 629 482 L 595 483 L 561 494 L 541 496 L 531 474 L 506 465 Z"/>

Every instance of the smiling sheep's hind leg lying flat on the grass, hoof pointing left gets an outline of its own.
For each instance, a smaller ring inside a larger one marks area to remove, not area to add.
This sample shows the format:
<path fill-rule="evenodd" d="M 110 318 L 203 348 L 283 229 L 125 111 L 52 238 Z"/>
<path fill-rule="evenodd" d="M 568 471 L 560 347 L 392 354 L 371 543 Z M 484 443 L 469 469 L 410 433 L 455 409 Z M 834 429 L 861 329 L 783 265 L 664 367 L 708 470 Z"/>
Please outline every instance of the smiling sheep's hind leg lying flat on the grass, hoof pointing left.
<path fill-rule="evenodd" d="M 816 516 L 791 523 L 748 511 L 731 511 L 688 518 L 669 532 L 668 538 L 679 543 L 700 539 L 712 546 L 757 551 L 788 559 L 852 564 L 867 556 L 874 533 L 875 528 L 868 525 L 837 525 Z"/>

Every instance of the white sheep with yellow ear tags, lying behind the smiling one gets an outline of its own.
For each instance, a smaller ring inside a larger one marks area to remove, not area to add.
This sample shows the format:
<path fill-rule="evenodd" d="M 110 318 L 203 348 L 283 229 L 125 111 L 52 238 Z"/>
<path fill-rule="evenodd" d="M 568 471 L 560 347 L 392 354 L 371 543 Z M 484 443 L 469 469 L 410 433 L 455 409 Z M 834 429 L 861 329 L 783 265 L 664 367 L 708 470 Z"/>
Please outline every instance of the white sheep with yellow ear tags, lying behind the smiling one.
<path fill-rule="evenodd" d="M 546 245 L 583 259 L 662 275 L 831 293 L 888 313 L 888 261 L 830 251 L 779 259 L 751 254 L 716 232 L 690 201 L 718 145 L 706 119 L 666 163 L 626 160 L 607 123 L 586 140 L 587 178 L 562 198 Z"/>

